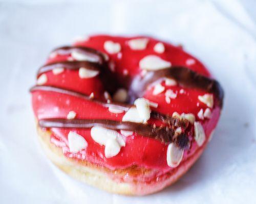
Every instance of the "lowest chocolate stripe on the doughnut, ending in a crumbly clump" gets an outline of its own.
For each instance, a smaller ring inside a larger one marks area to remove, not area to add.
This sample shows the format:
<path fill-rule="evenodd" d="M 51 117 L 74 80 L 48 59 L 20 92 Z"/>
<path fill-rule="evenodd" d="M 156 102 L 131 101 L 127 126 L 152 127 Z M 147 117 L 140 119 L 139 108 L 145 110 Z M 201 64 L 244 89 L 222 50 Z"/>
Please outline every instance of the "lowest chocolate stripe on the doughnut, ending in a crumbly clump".
<path fill-rule="evenodd" d="M 185 133 L 175 133 L 174 126 L 155 126 L 136 122 L 122 122 L 105 119 L 62 119 L 50 118 L 39 120 L 41 127 L 60 127 L 91 129 L 93 126 L 102 126 L 111 130 L 133 131 L 141 136 L 157 139 L 163 143 L 175 142 L 180 148 L 185 148 L 188 144 L 188 137 Z M 187 129 L 188 132 L 189 129 Z"/>

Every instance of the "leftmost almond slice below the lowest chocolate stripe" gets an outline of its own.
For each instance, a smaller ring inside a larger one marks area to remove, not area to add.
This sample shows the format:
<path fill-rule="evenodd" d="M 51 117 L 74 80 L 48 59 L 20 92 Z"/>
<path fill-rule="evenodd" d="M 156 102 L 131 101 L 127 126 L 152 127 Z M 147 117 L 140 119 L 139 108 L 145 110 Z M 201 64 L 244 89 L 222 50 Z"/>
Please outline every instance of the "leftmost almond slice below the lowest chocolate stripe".
<path fill-rule="evenodd" d="M 70 151 L 74 153 L 77 153 L 88 146 L 86 139 L 72 131 L 69 132 L 68 142 Z"/>

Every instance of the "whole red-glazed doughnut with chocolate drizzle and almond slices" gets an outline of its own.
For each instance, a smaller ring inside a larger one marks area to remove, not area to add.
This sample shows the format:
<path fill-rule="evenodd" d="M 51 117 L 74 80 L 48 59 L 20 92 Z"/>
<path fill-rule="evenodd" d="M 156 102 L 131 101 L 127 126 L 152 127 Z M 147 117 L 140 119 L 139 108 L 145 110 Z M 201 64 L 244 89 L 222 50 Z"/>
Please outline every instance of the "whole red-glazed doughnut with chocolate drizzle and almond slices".
<path fill-rule="evenodd" d="M 210 141 L 224 97 L 198 59 L 149 36 L 94 35 L 58 47 L 30 92 L 48 158 L 124 195 L 176 182 Z"/>

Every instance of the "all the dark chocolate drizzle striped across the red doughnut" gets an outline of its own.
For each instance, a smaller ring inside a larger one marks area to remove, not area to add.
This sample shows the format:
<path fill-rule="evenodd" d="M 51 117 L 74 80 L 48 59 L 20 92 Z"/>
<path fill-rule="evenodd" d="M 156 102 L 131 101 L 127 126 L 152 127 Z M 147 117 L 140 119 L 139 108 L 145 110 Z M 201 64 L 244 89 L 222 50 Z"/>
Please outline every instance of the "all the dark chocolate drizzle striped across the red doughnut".
<path fill-rule="evenodd" d="M 111 73 L 108 65 L 106 64 L 103 54 L 98 50 L 80 46 L 65 46 L 53 50 L 53 52 L 57 53 L 58 55 L 68 55 L 72 54 L 72 52 L 74 51 L 84 54 L 84 61 L 49 63 L 40 67 L 37 74 L 39 75 L 57 67 L 71 70 L 79 69 L 80 67 L 100 70 L 100 80 L 102 81 L 103 86 L 106 88 L 106 90 L 108 90 L 110 93 L 113 93 L 117 89 L 117 87 L 120 86 L 129 89 L 129 102 L 131 104 L 133 104 L 136 98 L 142 97 L 146 88 L 152 83 L 163 80 L 164 78 L 172 78 L 175 79 L 180 86 L 202 89 L 206 92 L 214 94 L 215 106 L 222 107 L 224 93 L 220 84 L 216 80 L 207 78 L 186 67 L 170 67 L 168 69 L 148 71 L 143 76 L 137 74 L 133 79 L 129 79 L 127 82 L 123 84 L 117 84 L 115 76 L 113 73 Z M 129 110 L 133 106 L 131 104 L 115 103 L 113 101 L 111 101 L 111 103 L 106 103 L 104 101 L 90 98 L 87 95 L 73 90 L 53 86 L 34 86 L 30 89 L 30 91 L 53 91 L 57 93 L 68 94 L 93 101 L 94 103 L 106 108 L 112 107 L 123 111 Z M 151 117 L 163 121 L 165 125 L 156 126 L 143 123 L 122 122 L 105 119 L 68 120 L 61 118 L 41 119 L 39 120 L 39 125 L 41 127 L 65 127 L 81 129 L 89 129 L 95 125 L 99 125 L 112 130 L 133 131 L 139 135 L 158 139 L 164 143 L 174 142 L 180 148 L 185 148 L 188 146 L 188 135 L 191 134 L 191 130 L 193 130 L 193 127 L 191 127 L 192 125 L 187 120 L 170 117 L 156 111 L 152 111 Z M 177 127 L 181 127 L 181 133 L 175 132 Z"/>

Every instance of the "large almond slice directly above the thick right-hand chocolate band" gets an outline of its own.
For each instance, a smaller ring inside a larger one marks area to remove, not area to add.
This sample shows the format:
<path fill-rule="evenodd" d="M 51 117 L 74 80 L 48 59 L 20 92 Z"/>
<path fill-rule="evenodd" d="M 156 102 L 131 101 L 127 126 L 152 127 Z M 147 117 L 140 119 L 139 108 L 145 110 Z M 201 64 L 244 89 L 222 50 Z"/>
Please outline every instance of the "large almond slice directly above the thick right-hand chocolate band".
<path fill-rule="evenodd" d="M 155 71 L 159 69 L 166 69 L 171 66 L 170 62 L 167 62 L 155 55 L 148 55 L 140 60 L 139 66 L 141 69 Z"/>

